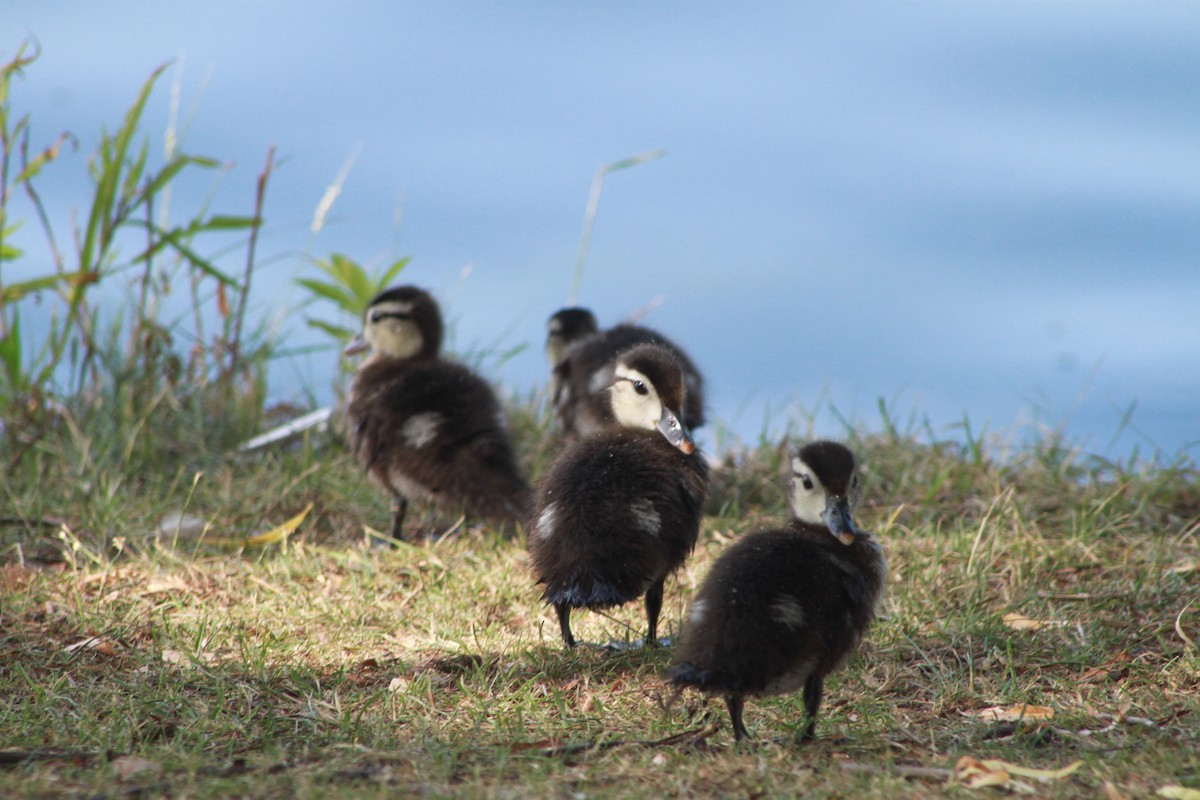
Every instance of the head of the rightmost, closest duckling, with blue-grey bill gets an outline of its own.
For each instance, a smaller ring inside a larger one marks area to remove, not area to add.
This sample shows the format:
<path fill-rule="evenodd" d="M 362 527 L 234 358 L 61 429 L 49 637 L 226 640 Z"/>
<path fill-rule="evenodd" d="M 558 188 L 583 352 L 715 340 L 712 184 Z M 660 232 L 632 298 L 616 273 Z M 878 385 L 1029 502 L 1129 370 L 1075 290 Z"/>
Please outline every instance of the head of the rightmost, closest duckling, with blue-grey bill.
<path fill-rule="evenodd" d="M 792 513 L 809 525 L 827 528 L 842 545 L 860 531 L 851 518 L 858 503 L 854 453 L 836 441 L 814 441 L 792 456 Z"/>

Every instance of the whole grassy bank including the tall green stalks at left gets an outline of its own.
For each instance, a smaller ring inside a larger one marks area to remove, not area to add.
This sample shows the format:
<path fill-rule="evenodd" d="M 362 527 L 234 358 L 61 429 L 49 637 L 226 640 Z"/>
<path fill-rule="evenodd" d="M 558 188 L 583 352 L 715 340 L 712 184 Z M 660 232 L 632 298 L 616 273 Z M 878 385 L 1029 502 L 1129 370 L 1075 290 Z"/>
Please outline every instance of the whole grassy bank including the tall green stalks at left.
<path fill-rule="evenodd" d="M 829 681 L 816 742 L 790 741 L 802 706 L 775 698 L 750 704 L 756 741 L 736 747 L 719 703 L 672 697 L 668 651 L 563 650 L 523 531 L 416 507 L 412 523 L 449 535 L 380 547 L 388 504 L 336 439 L 239 455 L 278 421 L 280 354 L 246 313 L 274 152 L 241 206 L 166 219 L 175 178 L 220 164 L 149 155 L 160 70 L 88 161 L 90 210 L 53 221 L 35 179 L 73 137 L 30 145 L 8 95 L 35 58 L 0 66 L 0 796 L 1200 789 L 1190 462 L 847 432 L 858 522 L 892 566 L 883 616 Z M 17 247 L 18 219 L 48 254 Z M 373 294 L 348 257 L 316 266 L 313 299 L 356 312 Z M 180 295 L 182 318 L 163 311 Z M 548 420 L 533 399 L 510 419 L 536 476 Z M 728 542 L 786 517 L 779 443 L 720 458 L 668 632 Z M 637 607 L 583 613 L 576 634 L 642 625 Z"/>

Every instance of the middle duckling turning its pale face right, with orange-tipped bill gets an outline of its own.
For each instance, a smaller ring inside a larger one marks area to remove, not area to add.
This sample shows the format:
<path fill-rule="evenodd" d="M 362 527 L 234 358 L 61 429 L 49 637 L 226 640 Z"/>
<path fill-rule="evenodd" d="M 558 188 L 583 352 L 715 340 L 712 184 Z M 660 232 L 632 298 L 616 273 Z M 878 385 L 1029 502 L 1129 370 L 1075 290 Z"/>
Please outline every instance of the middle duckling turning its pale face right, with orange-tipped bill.
<path fill-rule="evenodd" d="M 679 422 L 684 377 L 670 350 L 618 355 L 606 395 L 614 427 L 559 453 L 529 523 L 533 571 L 569 648 L 572 608 L 643 595 L 646 643 L 658 642 L 664 583 L 696 543 L 708 493 L 708 464 Z"/>

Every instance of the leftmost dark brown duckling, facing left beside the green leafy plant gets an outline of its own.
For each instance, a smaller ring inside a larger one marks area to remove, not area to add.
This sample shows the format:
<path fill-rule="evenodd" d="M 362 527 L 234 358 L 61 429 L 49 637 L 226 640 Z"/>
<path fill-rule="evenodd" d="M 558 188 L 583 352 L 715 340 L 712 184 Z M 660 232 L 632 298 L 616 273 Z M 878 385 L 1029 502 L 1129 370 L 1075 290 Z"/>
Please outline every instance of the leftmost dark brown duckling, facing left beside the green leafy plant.
<path fill-rule="evenodd" d="M 532 491 L 491 386 L 439 357 L 442 312 L 416 287 L 388 289 L 362 315 L 346 355 L 371 349 L 347 407 L 350 450 L 394 499 L 404 539 L 409 500 L 492 521 L 524 521 Z"/>

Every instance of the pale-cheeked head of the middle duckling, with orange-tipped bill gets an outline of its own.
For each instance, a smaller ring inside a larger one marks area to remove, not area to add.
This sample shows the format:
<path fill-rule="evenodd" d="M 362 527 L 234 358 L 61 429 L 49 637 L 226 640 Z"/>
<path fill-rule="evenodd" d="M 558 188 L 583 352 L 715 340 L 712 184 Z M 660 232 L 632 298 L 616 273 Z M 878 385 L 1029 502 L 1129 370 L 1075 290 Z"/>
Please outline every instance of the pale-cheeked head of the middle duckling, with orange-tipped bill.
<path fill-rule="evenodd" d="M 683 452 L 695 450 L 679 421 L 686 390 L 683 371 L 670 350 L 658 344 L 625 350 L 617 356 L 608 391 L 613 416 L 623 427 L 658 431 Z"/>

